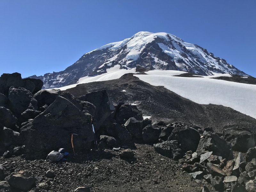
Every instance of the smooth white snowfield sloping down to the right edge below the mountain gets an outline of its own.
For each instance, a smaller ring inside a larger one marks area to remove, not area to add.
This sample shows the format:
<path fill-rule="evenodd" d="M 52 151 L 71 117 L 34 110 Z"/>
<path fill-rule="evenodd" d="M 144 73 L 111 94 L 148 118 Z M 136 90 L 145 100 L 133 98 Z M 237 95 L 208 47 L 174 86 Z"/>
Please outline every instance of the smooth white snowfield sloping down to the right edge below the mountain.
<path fill-rule="evenodd" d="M 223 105 L 256 118 L 256 85 L 212 78 L 176 77 L 172 76 L 173 71 L 161 72 L 164 75 L 159 71 L 149 71 L 146 72 L 148 75 L 134 76 L 151 85 L 164 86 L 196 103 Z"/>

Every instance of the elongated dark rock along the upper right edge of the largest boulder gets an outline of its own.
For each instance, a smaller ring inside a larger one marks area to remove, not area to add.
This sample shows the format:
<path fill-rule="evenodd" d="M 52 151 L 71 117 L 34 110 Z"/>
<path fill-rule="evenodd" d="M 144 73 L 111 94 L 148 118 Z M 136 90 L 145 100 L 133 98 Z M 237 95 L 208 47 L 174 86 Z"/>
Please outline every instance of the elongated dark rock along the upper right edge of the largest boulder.
<path fill-rule="evenodd" d="M 71 103 L 73 103 L 79 110 L 83 111 L 84 113 L 89 113 L 92 116 L 95 116 L 96 107 L 92 103 L 88 101 L 82 101 L 77 99 L 74 95 L 72 95 L 69 92 L 63 92 L 61 93 L 62 97 L 69 100 Z"/>

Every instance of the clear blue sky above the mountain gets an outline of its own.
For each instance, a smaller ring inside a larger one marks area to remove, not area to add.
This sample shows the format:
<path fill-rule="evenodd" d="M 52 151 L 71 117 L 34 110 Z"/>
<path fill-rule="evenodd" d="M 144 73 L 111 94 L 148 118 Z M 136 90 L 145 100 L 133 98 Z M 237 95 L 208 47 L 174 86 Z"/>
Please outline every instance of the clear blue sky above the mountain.
<path fill-rule="evenodd" d="M 198 44 L 256 77 L 255 8 L 255 0 L 1 0 L 0 73 L 61 71 L 86 52 L 150 31 Z"/>

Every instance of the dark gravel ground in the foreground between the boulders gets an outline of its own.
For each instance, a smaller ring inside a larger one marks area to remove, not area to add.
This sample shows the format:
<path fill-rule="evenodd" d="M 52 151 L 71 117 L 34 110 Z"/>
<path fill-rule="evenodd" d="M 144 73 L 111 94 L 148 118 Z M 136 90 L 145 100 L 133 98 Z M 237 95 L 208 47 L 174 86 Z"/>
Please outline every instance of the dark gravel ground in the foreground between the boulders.
<path fill-rule="evenodd" d="M 154 147 L 135 144 L 135 158 L 127 161 L 112 150 L 89 152 L 69 162 L 51 163 L 48 161 L 29 161 L 21 156 L 0 158 L 0 164 L 8 164 L 12 172 L 32 171 L 36 185 L 45 191 L 72 191 L 79 186 L 89 186 L 92 191 L 168 191 L 196 192 L 212 186 L 204 180 L 194 180 L 184 172 L 179 162 L 155 152 Z M 44 176 L 52 169 L 53 179 Z"/>

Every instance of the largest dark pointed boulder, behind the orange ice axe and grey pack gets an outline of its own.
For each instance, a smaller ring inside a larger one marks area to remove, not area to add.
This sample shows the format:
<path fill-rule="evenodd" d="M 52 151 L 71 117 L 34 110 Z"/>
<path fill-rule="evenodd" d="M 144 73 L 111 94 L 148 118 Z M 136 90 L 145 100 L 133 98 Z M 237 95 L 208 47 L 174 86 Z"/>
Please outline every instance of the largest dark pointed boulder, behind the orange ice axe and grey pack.
<path fill-rule="evenodd" d="M 27 155 L 43 158 L 58 148 L 72 151 L 71 133 L 78 134 L 73 140 L 76 150 L 89 149 L 94 138 L 91 115 L 59 96 L 43 113 L 21 127 L 20 135 L 24 138 Z"/>

